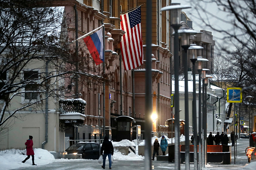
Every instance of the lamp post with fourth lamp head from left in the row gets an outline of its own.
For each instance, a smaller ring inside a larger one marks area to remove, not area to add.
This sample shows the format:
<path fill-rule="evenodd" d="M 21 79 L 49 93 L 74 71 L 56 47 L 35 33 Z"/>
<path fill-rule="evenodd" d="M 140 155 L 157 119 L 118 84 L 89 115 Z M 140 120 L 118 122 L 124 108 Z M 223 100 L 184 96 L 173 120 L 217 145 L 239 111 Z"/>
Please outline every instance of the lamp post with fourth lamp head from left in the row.
<path fill-rule="evenodd" d="M 201 101 L 201 74 L 202 74 L 202 64 L 203 62 L 208 62 L 209 60 L 198 56 L 197 57 L 197 71 L 198 71 L 198 157 L 199 157 L 199 170 L 202 169 L 202 101 Z"/>

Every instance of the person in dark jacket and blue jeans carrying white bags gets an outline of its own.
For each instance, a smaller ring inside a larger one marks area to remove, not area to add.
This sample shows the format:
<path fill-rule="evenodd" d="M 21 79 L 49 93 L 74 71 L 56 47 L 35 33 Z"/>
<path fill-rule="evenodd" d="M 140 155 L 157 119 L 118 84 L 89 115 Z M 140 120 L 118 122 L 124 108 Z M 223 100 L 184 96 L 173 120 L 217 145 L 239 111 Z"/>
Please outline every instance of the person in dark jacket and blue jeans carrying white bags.
<path fill-rule="evenodd" d="M 103 151 L 104 151 L 104 153 L 103 153 Z M 108 156 L 109 169 L 112 169 L 111 168 L 111 155 L 113 156 L 113 154 L 114 154 L 114 147 L 113 147 L 112 142 L 108 140 L 107 136 L 104 137 L 104 142 L 102 142 L 100 154 L 103 155 L 103 165 L 101 167 L 103 169 L 105 169 L 106 158 Z"/>

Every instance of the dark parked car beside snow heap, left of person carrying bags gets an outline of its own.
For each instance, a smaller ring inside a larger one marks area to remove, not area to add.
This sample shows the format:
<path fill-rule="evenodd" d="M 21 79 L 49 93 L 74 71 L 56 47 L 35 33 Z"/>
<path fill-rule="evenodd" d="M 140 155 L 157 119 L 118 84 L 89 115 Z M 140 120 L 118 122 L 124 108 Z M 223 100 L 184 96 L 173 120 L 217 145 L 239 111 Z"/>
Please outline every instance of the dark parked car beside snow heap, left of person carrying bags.
<path fill-rule="evenodd" d="M 65 150 L 68 154 L 82 154 L 83 159 L 99 159 L 100 144 L 94 142 L 79 142 Z"/>

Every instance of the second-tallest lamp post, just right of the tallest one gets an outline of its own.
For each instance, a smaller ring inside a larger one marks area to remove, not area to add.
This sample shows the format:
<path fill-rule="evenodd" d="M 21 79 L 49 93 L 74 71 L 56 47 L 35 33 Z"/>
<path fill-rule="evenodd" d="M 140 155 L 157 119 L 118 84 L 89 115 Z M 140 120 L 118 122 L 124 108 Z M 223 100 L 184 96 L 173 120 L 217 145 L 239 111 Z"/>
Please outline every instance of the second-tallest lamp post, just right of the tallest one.
<path fill-rule="evenodd" d="M 181 35 L 181 47 L 184 50 L 184 79 L 185 79 L 185 169 L 189 170 L 189 112 L 188 112 L 188 48 L 190 47 L 190 35 L 195 35 L 197 32 L 188 28 L 181 28 L 178 30 Z"/>

